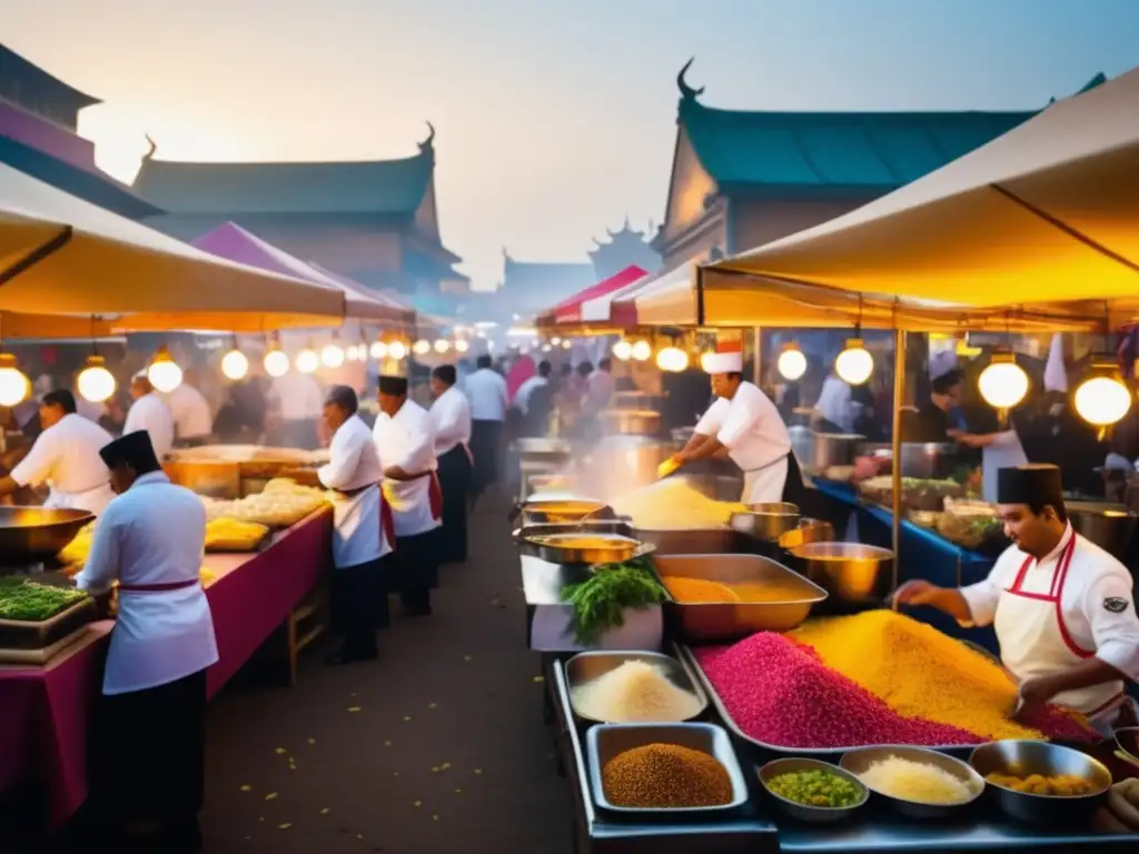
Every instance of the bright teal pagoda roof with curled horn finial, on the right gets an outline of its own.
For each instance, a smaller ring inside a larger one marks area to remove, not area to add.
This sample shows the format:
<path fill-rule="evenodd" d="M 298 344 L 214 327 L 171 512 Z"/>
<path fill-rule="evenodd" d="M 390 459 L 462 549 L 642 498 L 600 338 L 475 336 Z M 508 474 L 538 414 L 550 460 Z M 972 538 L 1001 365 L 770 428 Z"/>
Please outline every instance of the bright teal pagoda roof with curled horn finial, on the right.
<path fill-rule="evenodd" d="M 678 122 L 721 191 L 888 191 L 1010 131 L 1038 110 L 744 112 L 707 107 L 678 77 Z"/>

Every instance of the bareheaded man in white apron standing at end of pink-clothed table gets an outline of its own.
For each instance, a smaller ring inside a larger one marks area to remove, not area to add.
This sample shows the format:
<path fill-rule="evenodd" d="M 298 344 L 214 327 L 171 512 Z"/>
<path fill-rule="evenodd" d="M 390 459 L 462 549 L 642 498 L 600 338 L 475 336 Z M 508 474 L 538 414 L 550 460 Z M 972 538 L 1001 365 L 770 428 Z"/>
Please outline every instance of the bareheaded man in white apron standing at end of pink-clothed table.
<path fill-rule="evenodd" d="M 379 655 L 376 632 L 388 623 L 387 588 L 395 531 L 385 512 L 379 482 L 384 470 L 347 386 L 333 386 L 325 424 L 333 435 L 328 463 L 317 476 L 333 502 L 333 631 L 343 638 L 329 664 L 371 660 Z"/>

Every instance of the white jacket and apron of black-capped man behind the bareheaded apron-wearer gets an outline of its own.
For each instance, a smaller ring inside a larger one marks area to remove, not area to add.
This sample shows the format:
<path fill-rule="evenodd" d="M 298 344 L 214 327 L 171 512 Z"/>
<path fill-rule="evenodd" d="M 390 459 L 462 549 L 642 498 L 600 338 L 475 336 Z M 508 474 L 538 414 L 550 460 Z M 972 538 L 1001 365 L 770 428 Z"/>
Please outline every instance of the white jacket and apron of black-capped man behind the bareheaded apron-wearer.
<path fill-rule="evenodd" d="M 409 475 L 436 469 L 435 429 L 427 410 L 405 400 L 395 417 L 380 412 L 371 433 L 384 468 L 399 466 Z M 392 507 L 395 535 L 416 536 L 440 526 L 431 511 L 431 478 L 392 481 L 384 478 L 384 498 Z"/>

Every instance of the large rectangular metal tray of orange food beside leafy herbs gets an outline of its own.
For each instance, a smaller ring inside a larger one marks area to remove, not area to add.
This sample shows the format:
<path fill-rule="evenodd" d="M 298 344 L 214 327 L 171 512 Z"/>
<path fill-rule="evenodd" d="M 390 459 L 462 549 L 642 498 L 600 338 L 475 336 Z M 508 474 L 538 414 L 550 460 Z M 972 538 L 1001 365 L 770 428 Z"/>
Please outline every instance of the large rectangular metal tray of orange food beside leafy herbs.
<path fill-rule="evenodd" d="M 779 582 L 801 591 L 787 602 L 678 602 L 671 596 L 665 614 L 686 641 L 730 641 L 755 632 L 787 632 L 826 601 L 827 591 L 770 558 L 759 555 L 662 555 L 662 578 L 679 576 L 721 584 Z"/>

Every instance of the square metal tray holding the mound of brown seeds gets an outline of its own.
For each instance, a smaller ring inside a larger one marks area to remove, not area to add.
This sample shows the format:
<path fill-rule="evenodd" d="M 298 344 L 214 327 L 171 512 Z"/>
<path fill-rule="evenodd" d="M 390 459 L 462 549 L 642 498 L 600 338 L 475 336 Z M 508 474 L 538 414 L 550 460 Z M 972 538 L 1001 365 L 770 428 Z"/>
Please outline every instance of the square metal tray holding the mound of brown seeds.
<path fill-rule="evenodd" d="M 702 819 L 736 810 L 747 803 L 747 780 L 739 767 L 731 739 L 711 723 L 599 723 L 585 733 L 589 781 L 593 803 L 601 810 L 625 816 L 688 815 Z M 601 782 L 605 763 L 625 750 L 645 745 L 678 745 L 714 756 L 731 779 L 731 800 L 721 806 L 631 807 L 609 803 Z"/>

